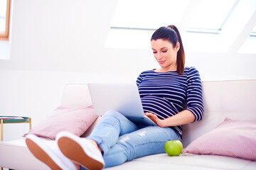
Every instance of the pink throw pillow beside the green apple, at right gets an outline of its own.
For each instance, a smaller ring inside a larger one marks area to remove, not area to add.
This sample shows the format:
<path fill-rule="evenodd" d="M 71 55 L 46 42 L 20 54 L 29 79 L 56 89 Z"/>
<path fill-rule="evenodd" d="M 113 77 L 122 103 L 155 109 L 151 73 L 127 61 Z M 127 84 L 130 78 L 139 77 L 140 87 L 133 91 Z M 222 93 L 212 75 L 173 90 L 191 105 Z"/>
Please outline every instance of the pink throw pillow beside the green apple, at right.
<path fill-rule="evenodd" d="M 256 161 L 256 120 L 225 118 L 216 128 L 191 142 L 183 153 L 217 154 Z"/>

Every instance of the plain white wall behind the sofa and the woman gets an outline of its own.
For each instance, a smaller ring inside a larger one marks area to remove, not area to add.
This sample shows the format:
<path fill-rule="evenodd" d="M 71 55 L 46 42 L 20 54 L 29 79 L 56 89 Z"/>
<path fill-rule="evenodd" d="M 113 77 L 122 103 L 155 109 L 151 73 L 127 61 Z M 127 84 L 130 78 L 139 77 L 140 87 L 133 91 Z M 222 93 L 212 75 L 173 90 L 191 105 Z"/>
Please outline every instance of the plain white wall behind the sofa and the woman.
<path fill-rule="evenodd" d="M 150 49 L 104 47 L 116 3 L 12 1 L 11 52 L 0 43 L 1 55 L 11 54 L 0 60 L 0 115 L 29 116 L 33 126 L 59 105 L 66 83 L 135 81 L 143 70 L 156 68 Z M 256 79 L 253 54 L 186 51 L 186 57 L 203 81 Z M 4 125 L 4 140 L 27 131 L 26 124 Z"/>

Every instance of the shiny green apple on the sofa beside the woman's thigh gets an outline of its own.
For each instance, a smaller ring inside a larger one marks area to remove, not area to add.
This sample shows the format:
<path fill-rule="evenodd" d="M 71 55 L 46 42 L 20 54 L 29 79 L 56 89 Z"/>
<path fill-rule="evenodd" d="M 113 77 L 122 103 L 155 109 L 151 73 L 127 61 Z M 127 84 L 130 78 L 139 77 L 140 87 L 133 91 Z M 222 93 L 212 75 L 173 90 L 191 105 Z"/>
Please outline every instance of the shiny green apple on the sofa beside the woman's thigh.
<path fill-rule="evenodd" d="M 182 152 L 183 145 L 179 140 L 169 140 L 165 143 L 164 149 L 169 156 L 178 156 Z"/>

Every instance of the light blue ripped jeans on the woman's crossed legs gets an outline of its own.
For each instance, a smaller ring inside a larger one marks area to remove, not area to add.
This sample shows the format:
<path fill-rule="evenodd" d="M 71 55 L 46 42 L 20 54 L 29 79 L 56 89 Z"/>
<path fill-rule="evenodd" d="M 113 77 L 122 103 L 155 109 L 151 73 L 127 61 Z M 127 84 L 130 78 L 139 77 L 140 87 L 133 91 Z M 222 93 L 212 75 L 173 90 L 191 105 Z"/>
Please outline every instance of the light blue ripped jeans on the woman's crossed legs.
<path fill-rule="evenodd" d="M 135 158 L 164 153 L 168 140 L 181 140 L 171 128 L 136 125 L 116 111 L 108 111 L 89 137 L 103 152 L 105 168 Z"/>

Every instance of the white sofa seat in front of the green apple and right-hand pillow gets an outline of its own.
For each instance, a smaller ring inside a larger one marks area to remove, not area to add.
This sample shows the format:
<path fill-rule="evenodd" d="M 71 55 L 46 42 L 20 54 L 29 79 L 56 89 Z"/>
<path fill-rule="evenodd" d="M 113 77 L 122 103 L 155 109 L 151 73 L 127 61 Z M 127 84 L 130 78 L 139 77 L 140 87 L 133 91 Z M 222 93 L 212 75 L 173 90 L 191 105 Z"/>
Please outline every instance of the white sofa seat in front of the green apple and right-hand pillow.
<path fill-rule="evenodd" d="M 134 159 L 108 170 L 130 169 L 189 169 L 189 170 L 213 170 L 233 169 L 252 170 L 256 162 L 233 157 L 200 154 L 180 154 L 178 157 L 169 157 L 167 154 L 155 154 Z"/>

